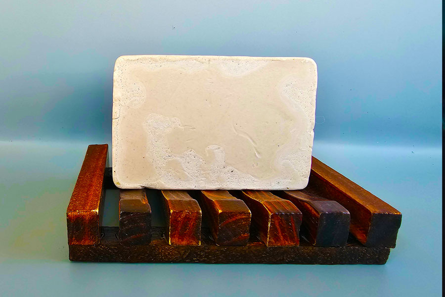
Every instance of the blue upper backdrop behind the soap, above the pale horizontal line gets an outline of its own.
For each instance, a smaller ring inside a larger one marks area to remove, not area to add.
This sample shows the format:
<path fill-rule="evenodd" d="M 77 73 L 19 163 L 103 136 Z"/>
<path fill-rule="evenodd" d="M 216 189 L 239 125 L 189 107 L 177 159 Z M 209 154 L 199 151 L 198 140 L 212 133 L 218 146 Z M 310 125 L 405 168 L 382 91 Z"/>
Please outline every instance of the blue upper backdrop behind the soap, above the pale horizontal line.
<path fill-rule="evenodd" d="M 122 54 L 308 56 L 315 140 L 440 144 L 441 1 L 2 1 L 0 139 L 111 139 Z"/>

